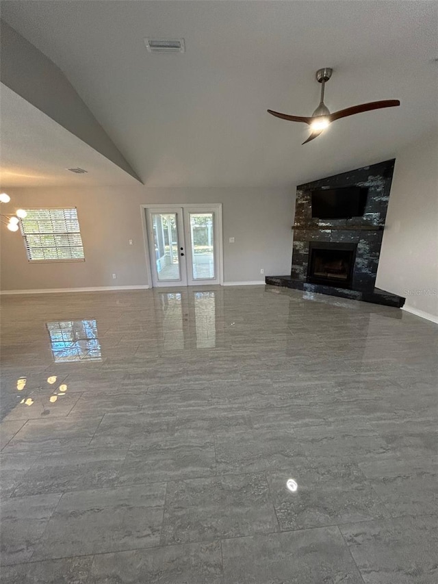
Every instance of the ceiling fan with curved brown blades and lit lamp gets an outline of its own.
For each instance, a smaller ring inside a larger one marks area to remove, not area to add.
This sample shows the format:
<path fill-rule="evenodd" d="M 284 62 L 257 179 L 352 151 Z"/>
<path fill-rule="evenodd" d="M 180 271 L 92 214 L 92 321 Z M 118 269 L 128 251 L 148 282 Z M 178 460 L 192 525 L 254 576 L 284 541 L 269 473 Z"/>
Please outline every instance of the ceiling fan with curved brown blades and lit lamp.
<path fill-rule="evenodd" d="M 302 142 L 303 144 L 314 140 L 317 136 L 322 134 L 324 129 L 329 127 L 329 125 L 335 120 L 346 118 L 347 116 L 354 116 L 355 114 L 361 114 L 361 112 L 380 110 L 382 107 L 395 107 L 396 105 L 400 105 L 400 101 L 398 101 L 398 99 L 370 101 L 369 103 L 362 103 L 361 105 L 352 105 L 352 107 L 346 107 L 345 110 L 339 110 L 339 112 L 331 114 L 329 108 L 324 103 L 324 89 L 325 84 L 327 81 L 329 81 L 332 73 L 333 69 L 330 67 L 318 69 L 316 72 L 316 80 L 321 84 L 321 101 L 320 105 L 318 105 L 311 116 L 289 116 L 287 114 L 280 114 L 280 112 L 273 112 L 272 110 L 268 110 L 268 113 L 272 114 L 272 116 L 276 116 L 276 118 L 289 120 L 289 122 L 304 122 L 305 124 L 308 124 L 311 129 L 311 134 L 307 140 Z"/>

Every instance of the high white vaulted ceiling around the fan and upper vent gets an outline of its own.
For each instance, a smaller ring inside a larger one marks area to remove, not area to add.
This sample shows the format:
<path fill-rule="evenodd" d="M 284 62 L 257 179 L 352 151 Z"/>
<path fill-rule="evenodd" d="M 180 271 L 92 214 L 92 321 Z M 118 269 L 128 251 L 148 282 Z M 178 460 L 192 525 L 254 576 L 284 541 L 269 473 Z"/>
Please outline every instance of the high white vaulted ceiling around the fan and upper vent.
<path fill-rule="evenodd" d="M 3 1 L 2 18 L 73 84 L 146 186 L 288 186 L 396 155 L 437 123 L 437 3 Z M 143 39 L 184 38 L 183 54 Z M 400 107 L 305 129 L 326 104 Z"/>

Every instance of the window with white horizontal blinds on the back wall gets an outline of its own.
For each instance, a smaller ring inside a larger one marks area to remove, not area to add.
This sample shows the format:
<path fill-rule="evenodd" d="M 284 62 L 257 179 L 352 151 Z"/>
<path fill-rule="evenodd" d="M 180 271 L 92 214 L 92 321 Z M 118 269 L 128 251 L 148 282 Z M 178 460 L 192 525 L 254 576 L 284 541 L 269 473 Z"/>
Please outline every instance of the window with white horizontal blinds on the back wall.
<path fill-rule="evenodd" d="M 29 262 L 81 261 L 83 246 L 77 210 L 26 209 L 21 219 L 21 233 L 25 240 Z"/>

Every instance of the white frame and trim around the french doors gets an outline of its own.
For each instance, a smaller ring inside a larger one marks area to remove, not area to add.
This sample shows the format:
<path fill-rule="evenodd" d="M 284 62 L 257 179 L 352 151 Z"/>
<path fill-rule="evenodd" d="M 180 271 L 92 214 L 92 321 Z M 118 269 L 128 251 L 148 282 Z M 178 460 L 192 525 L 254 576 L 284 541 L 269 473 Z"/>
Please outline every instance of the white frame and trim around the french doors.
<path fill-rule="evenodd" d="M 159 203 L 147 203 L 144 205 L 140 205 L 140 210 L 142 214 L 142 227 L 143 227 L 143 240 L 144 240 L 144 253 L 146 257 L 146 274 L 148 277 L 149 286 L 153 288 L 152 283 L 152 269 L 151 269 L 151 255 L 149 253 L 149 242 L 148 242 L 148 231 L 147 231 L 147 224 L 146 224 L 146 210 L 153 210 L 153 209 L 160 209 L 160 210 L 175 210 L 175 207 L 182 207 L 183 212 L 185 210 L 193 210 L 199 212 L 200 210 L 203 211 L 214 211 L 216 216 L 216 223 L 215 225 L 218 231 L 218 270 L 219 270 L 219 284 L 222 286 L 224 284 L 224 251 L 223 251 L 223 237 L 222 237 L 222 203 L 175 203 L 170 205 L 167 203 L 166 205 L 160 205 Z M 185 229 L 184 229 L 185 231 Z M 185 236 L 185 233 L 184 233 Z M 187 247 L 190 245 L 190 241 L 185 242 L 185 246 Z M 185 253 L 187 249 L 185 250 Z M 171 283 L 170 283 L 171 285 Z M 194 285 L 204 286 L 204 285 L 211 285 L 207 280 L 205 282 L 198 282 Z"/>

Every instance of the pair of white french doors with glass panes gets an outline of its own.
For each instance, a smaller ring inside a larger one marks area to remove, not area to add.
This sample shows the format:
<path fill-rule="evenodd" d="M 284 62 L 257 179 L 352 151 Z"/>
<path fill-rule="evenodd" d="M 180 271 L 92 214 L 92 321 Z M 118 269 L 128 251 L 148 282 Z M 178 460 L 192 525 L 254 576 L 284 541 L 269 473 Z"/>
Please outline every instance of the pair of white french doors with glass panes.
<path fill-rule="evenodd" d="M 218 284 L 221 205 L 145 205 L 153 287 Z"/>

